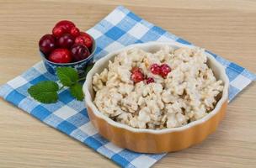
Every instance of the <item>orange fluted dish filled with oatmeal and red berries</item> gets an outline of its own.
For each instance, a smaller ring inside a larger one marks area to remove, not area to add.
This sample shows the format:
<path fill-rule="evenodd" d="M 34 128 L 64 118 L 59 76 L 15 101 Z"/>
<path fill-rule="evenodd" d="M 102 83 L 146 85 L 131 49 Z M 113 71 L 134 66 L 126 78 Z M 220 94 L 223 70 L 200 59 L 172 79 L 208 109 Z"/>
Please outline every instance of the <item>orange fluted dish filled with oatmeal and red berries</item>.
<path fill-rule="evenodd" d="M 143 153 L 177 151 L 216 130 L 228 99 L 228 78 L 195 46 L 149 42 L 98 60 L 83 85 L 99 134 Z"/>

